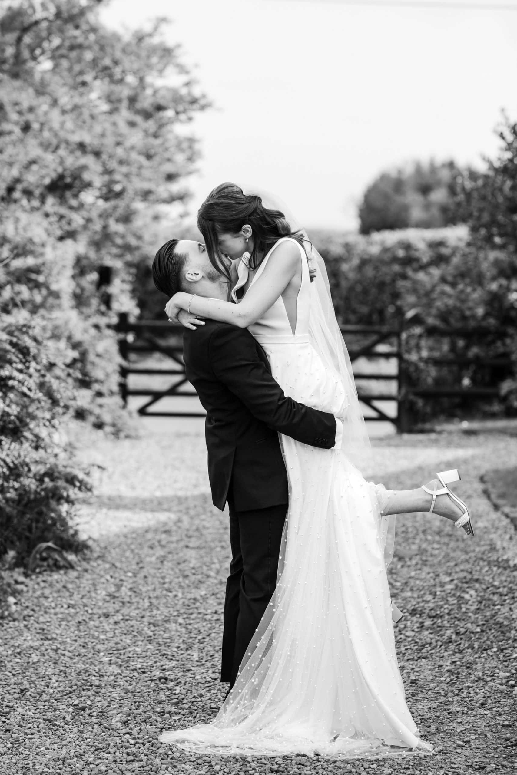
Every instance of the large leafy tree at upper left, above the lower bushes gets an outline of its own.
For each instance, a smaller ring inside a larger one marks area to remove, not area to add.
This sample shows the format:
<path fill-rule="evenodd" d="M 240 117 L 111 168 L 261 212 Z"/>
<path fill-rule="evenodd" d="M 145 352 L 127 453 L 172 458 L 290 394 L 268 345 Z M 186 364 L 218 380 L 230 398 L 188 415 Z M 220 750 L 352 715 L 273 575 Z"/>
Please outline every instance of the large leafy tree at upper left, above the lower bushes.
<path fill-rule="evenodd" d="M 95 298 L 99 263 L 129 288 L 164 208 L 187 198 L 198 155 L 184 125 L 209 103 L 163 20 L 125 36 L 102 25 L 98 5 L 23 0 L 0 16 L 0 262 L 12 274 L 31 267 L 29 307 L 49 260 L 69 266 L 80 308 Z M 13 303 L 4 294 L 4 312 Z"/>

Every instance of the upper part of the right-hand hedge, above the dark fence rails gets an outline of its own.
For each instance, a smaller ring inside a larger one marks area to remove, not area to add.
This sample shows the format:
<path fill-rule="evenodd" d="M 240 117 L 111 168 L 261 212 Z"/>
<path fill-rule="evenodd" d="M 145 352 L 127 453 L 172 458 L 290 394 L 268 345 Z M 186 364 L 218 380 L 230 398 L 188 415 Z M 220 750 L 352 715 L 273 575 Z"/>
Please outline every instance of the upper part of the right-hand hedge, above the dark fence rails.
<path fill-rule="evenodd" d="M 515 261 L 468 238 L 464 226 L 313 237 L 343 325 L 401 325 L 412 310 L 426 325 L 517 325 Z"/>

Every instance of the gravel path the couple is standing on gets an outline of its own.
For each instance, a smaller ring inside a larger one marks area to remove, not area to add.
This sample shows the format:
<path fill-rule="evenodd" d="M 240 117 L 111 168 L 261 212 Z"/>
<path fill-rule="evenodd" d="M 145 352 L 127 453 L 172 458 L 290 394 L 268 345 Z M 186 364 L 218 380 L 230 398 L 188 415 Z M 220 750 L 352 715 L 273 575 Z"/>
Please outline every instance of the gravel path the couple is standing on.
<path fill-rule="evenodd" d="M 415 487 L 458 467 L 477 535 L 398 518 L 392 594 L 408 704 L 436 756 L 336 762 L 188 756 L 163 729 L 209 720 L 229 563 L 227 515 L 211 505 L 202 425 L 154 421 L 139 440 L 91 440 L 105 467 L 81 509 L 92 538 L 75 570 L 23 581 L 0 626 L 0 773 L 517 773 L 517 532 L 484 495 L 517 439 L 411 436 L 375 443 L 367 477 Z M 178 426 L 176 426 L 178 428 Z M 100 471 L 100 469 L 99 469 Z"/>

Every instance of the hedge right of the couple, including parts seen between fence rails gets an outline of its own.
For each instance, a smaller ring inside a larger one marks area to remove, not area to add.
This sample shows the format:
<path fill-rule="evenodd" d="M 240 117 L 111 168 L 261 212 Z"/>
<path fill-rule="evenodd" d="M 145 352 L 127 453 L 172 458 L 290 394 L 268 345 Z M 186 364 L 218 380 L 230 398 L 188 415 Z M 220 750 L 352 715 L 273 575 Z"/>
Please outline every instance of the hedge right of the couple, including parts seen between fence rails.
<path fill-rule="evenodd" d="M 512 370 L 497 363 L 511 355 L 517 330 L 517 267 L 511 253 L 472 243 L 468 229 L 460 226 L 312 238 L 326 261 L 341 324 L 400 327 L 412 313 L 404 336 L 408 384 L 501 384 L 496 401 L 466 405 L 451 398 L 433 403 L 413 398 L 415 422 L 436 412 L 515 413 Z M 432 336 L 430 326 L 482 326 L 492 333 L 474 339 Z M 498 329 L 507 334 L 501 337 Z M 449 363 L 430 363 L 433 358 Z M 462 362 L 469 358 L 494 363 Z"/>

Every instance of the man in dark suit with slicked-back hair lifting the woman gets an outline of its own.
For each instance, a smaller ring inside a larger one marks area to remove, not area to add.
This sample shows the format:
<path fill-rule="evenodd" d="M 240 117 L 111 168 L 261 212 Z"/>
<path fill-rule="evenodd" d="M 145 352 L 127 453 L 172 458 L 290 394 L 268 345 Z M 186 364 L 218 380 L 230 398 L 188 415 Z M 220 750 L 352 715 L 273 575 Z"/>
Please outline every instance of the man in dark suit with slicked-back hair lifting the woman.
<path fill-rule="evenodd" d="M 205 246 L 190 239 L 171 239 L 160 247 L 153 281 L 167 298 L 176 291 L 229 298 L 226 277 L 212 267 Z M 336 442 L 339 446 L 343 425 L 333 415 L 286 397 L 271 376 L 264 350 L 247 329 L 206 320 L 195 330 L 184 329 L 183 346 L 188 381 L 207 412 L 212 501 L 221 510 L 229 506 L 232 560 L 221 680 L 229 681 L 231 688 L 277 582 L 288 509 L 288 477 L 278 433 L 330 449 Z"/>

